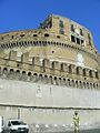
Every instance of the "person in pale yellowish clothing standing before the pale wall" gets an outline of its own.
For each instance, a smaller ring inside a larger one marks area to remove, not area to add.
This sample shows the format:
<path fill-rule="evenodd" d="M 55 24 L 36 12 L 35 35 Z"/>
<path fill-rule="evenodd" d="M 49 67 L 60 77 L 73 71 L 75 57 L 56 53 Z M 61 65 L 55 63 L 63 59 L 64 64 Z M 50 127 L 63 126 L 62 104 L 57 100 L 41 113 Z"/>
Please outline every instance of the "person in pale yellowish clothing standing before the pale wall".
<path fill-rule="evenodd" d="M 79 133 L 79 115 L 78 115 L 78 111 L 74 111 L 73 123 L 74 123 L 74 133 Z"/>

